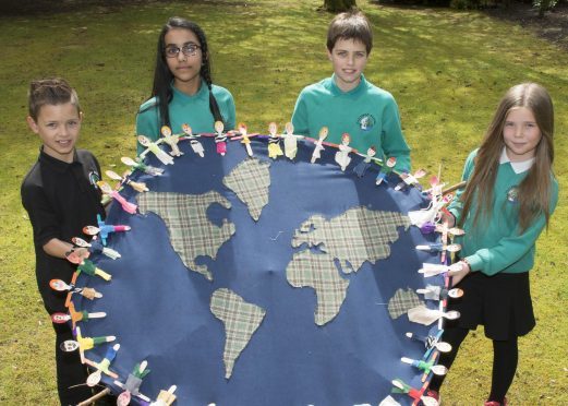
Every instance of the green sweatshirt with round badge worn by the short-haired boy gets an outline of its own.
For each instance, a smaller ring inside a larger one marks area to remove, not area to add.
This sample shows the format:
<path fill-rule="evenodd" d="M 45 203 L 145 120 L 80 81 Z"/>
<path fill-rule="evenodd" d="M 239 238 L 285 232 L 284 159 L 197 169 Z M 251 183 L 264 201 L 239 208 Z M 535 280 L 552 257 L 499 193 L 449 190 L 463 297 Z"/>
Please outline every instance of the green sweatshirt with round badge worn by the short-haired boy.
<path fill-rule="evenodd" d="M 400 126 L 392 95 L 361 75 L 359 85 L 341 91 L 335 75 L 305 87 L 292 115 L 294 133 L 317 139 L 322 127 L 329 129 L 326 141 L 341 143 L 341 134 L 351 135 L 350 146 L 366 154 L 375 146 L 377 157 L 397 158 L 397 170 L 410 170 L 410 147 Z M 384 156 L 383 156 L 384 155 Z"/>

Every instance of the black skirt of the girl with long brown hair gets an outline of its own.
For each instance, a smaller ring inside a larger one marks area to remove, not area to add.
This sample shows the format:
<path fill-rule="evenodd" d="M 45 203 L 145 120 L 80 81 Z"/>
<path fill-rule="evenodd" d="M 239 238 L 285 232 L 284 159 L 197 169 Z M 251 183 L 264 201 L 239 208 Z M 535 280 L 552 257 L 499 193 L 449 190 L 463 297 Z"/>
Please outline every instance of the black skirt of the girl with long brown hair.
<path fill-rule="evenodd" d="M 486 337 L 506 341 L 529 333 L 536 324 L 529 272 L 493 276 L 472 272 L 457 287 L 463 296 L 450 300 L 448 310 L 460 312 L 454 322 L 460 327 L 475 330 L 481 324 Z"/>

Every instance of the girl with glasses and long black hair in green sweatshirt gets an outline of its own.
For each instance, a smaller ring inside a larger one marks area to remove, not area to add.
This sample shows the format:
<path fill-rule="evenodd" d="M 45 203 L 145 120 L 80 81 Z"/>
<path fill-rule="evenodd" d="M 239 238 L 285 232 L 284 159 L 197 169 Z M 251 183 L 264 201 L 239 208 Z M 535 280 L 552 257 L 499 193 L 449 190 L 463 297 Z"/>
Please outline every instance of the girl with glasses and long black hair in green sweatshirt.
<path fill-rule="evenodd" d="M 232 95 L 212 82 L 205 33 L 194 22 L 170 17 L 158 38 L 152 95 L 140 107 L 136 134 L 156 141 L 162 126 L 177 134 L 183 123 L 195 133 L 214 132 L 216 121 L 232 130 L 234 120 Z"/>

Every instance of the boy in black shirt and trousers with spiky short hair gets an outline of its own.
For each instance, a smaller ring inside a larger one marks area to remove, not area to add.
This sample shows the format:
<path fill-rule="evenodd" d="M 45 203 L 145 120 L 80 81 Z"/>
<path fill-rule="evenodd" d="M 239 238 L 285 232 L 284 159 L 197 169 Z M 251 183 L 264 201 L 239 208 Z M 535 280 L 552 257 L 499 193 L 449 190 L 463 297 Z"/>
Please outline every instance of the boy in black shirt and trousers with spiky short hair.
<path fill-rule="evenodd" d="M 84 226 L 105 217 L 100 203 L 100 167 L 88 151 L 76 150 L 83 112 L 76 92 L 63 79 L 33 81 L 27 123 L 43 143 L 39 157 L 22 183 L 22 204 L 34 231 L 37 286 L 49 314 L 67 313 L 65 295 L 49 287 L 50 279 L 69 282 L 75 266 L 65 260 L 69 242 Z M 73 339 L 68 324 L 53 324 L 59 399 L 76 405 L 92 396 L 87 370 L 78 354 L 60 344 Z M 77 386 L 78 385 L 78 386 Z"/>

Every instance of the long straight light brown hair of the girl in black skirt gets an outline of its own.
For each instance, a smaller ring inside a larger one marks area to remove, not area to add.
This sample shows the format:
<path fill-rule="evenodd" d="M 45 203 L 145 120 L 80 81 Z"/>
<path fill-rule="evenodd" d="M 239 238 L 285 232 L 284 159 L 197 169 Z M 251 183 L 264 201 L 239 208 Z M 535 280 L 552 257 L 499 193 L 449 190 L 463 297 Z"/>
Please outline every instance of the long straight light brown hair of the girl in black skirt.
<path fill-rule="evenodd" d="M 525 107 L 532 111 L 542 134 L 541 141 L 536 145 L 534 163 L 519 184 L 520 230 L 523 232 L 541 213 L 544 213 L 546 227 L 548 227 L 554 162 L 554 107 L 548 92 L 536 83 L 522 83 L 513 86 L 500 100 L 475 157 L 475 168 L 461 195 L 463 211 L 460 225 L 463 225 L 475 195 L 478 210 L 473 222 L 479 220 L 480 214 L 488 218 L 499 157 L 505 147 L 503 140 L 505 120 L 512 109 L 519 107 Z"/>

